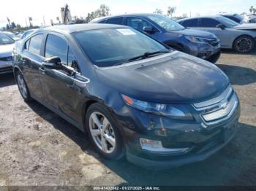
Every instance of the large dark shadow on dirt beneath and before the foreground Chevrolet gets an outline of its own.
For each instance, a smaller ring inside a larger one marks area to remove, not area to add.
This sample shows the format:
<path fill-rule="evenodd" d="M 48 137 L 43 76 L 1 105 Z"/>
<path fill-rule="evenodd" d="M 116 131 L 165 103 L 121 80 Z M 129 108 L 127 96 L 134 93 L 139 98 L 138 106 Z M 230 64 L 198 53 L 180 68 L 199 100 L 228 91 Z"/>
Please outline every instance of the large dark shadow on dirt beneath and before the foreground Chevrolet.
<path fill-rule="evenodd" d="M 256 171 L 255 137 L 256 127 L 239 123 L 240 132 L 233 141 L 227 144 L 216 154 L 198 163 L 184 165 L 159 171 L 158 169 L 145 169 L 128 163 L 127 160 L 111 161 L 100 157 L 92 147 L 86 133 L 81 132 L 73 125 L 66 122 L 58 115 L 50 112 L 41 104 L 33 101 L 29 104 L 44 120 L 50 122 L 54 128 L 60 130 L 75 144 L 108 167 L 114 174 L 124 180 L 122 185 L 248 185 L 253 184 L 253 179 L 248 179 L 248 174 L 254 177 Z M 49 115 L 51 117 L 49 117 Z M 253 144 L 254 143 L 254 144 Z M 246 152 L 244 152 L 246 151 Z M 252 169 L 253 168 L 253 169 Z"/>

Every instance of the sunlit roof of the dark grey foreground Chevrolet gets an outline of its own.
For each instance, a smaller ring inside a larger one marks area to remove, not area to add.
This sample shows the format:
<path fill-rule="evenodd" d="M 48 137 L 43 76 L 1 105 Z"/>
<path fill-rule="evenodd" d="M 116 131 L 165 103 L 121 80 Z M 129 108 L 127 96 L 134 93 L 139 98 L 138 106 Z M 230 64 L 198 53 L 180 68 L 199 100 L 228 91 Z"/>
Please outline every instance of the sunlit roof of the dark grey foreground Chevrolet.
<path fill-rule="evenodd" d="M 62 32 L 62 33 L 63 32 L 73 33 L 73 32 L 78 32 L 78 31 L 91 31 L 91 30 L 105 29 L 105 28 L 126 28 L 126 26 L 89 23 L 89 24 L 50 26 L 50 27 L 45 27 L 45 28 L 39 28 L 38 31 L 56 31 L 56 32 Z"/>

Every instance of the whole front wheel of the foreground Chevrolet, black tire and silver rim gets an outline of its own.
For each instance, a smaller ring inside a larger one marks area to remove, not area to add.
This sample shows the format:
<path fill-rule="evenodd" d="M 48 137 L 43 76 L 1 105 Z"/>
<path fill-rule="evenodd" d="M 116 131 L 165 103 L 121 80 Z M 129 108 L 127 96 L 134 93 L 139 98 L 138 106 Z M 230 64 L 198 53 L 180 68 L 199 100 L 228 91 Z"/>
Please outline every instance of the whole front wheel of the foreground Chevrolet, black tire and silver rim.
<path fill-rule="evenodd" d="M 105 106 L 102 104 L 89 106 L 86 112 L 86 130 L 100 155 L 110 160 L 121 160 L 124 157 L 124 139 L 116 120 Z"/>

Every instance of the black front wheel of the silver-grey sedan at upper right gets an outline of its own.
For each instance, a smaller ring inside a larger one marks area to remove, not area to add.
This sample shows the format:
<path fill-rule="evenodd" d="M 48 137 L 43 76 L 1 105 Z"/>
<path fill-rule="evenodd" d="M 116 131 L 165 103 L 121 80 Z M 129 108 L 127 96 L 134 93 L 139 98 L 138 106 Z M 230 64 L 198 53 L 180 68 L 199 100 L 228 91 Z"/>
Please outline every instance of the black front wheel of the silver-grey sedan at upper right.
<path fill-rule="evenodd" d="M 233 48 L 236 50 L 236 52 L 240 53 L 252 52 L 252 50 L 255 49 L 255 39 L 246 35 L 239 36 L 235 40 Z"/>

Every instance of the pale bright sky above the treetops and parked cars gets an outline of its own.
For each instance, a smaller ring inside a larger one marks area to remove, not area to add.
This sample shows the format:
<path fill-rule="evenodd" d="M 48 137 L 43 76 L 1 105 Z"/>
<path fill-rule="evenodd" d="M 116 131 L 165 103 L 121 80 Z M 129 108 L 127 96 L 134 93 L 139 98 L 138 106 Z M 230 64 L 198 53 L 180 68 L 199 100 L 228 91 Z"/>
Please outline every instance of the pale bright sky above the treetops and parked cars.
<path fill-rule="evenodd" d="M 34 25 L 50 25 L 50 19 L 56 22 L 61 17 L 60 9 L 68 4 L 72 16 L 86 17 L 88 12 L 99 8 L 100 4 L 110 7 L 111 15 L 124 13 L 151 13 L 162 9 L 166 14 L 167 7 L 177 7 L 174 16 L 184 13 L 188 16 L 211 15 L 219 12 L 249 12 L 255 0 L 1 0 L 0 27 L 10 21 L 26 26 L 28 17 L 33 18 Z M 45 19 L 44 19 L 45 18 Z"/>

